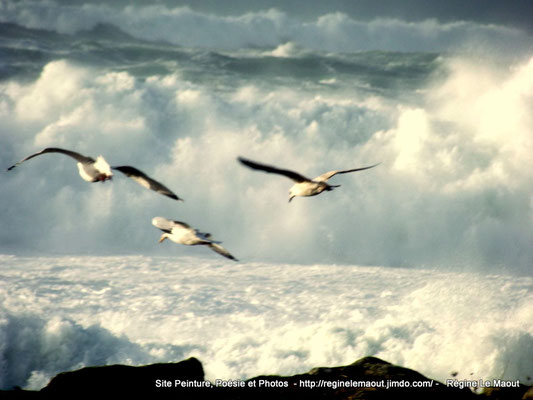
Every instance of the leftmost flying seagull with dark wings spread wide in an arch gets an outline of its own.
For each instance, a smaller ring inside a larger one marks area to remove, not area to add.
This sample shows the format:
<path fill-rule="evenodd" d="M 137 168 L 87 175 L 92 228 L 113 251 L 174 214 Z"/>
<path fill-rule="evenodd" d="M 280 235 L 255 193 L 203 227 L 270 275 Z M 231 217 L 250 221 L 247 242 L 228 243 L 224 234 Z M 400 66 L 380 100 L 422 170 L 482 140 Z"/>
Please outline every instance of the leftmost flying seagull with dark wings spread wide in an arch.
<path fill-rule="evenodd" d="M 172 191 L 170 191 L 166 186 L 153 180 L 136 168 L 130 166 L 111 167 L 102 156 L 96 157 L 95 160 L 92 157 L 84 156 L 80 153 L 76 153 L 75 151 L 60 149 L 58 147 L 47 147 L 46 149 L 29 155 L 28 157 L 23 158 L 18 163 L 9 167 L 7 170 L 11 171 L 24 161 L 28 161 L 33 157 L 37 157 L 46 153 L 61 153 L 74 158 L 76 161 L 78 161 L 77 165 L 80 176 L 87 182 L 105 182 L 106 180 L 110 180 L 113 178 L 113 172 L 111 172 L 111 170 L 116 169 L 148 189 L 154 190 L 174 200 L 182 200 L 172 193 Z"/>

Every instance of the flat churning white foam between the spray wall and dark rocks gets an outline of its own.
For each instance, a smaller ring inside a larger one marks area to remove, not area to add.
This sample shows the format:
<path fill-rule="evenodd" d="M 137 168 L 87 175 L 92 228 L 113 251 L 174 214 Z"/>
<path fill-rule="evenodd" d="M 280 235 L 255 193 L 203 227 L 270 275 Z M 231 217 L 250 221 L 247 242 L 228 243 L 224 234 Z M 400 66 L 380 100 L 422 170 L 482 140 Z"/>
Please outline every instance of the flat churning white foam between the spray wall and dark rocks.
<path fill-rule="evenodd" d="M 531 278 L 165 257 L 0 262 L 2 388 L 189 356 L 212 380 L 366 355 L 441 381 L 457 371 L 526 383 L 533 368 Z"/>

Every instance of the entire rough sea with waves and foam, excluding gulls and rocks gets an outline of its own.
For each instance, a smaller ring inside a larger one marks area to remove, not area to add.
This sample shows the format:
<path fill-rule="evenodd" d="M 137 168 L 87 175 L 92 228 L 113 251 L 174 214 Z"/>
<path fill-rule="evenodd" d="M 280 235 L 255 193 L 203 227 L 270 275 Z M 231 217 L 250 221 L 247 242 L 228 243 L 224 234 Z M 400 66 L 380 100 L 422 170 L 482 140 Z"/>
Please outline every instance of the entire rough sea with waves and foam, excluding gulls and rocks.
<path fill-rule="evenodd" d="M 0 1 L 0 388 L 197 356 L 207 377 L 366 355 L 533 374 L 533 41 L 509 26 Z M 290 204 L 291 181 L 341 187 Z M 221 240 L 158 244 L 151 219 Z M 529 381 L 528 381 L 529 379 Z"/>

